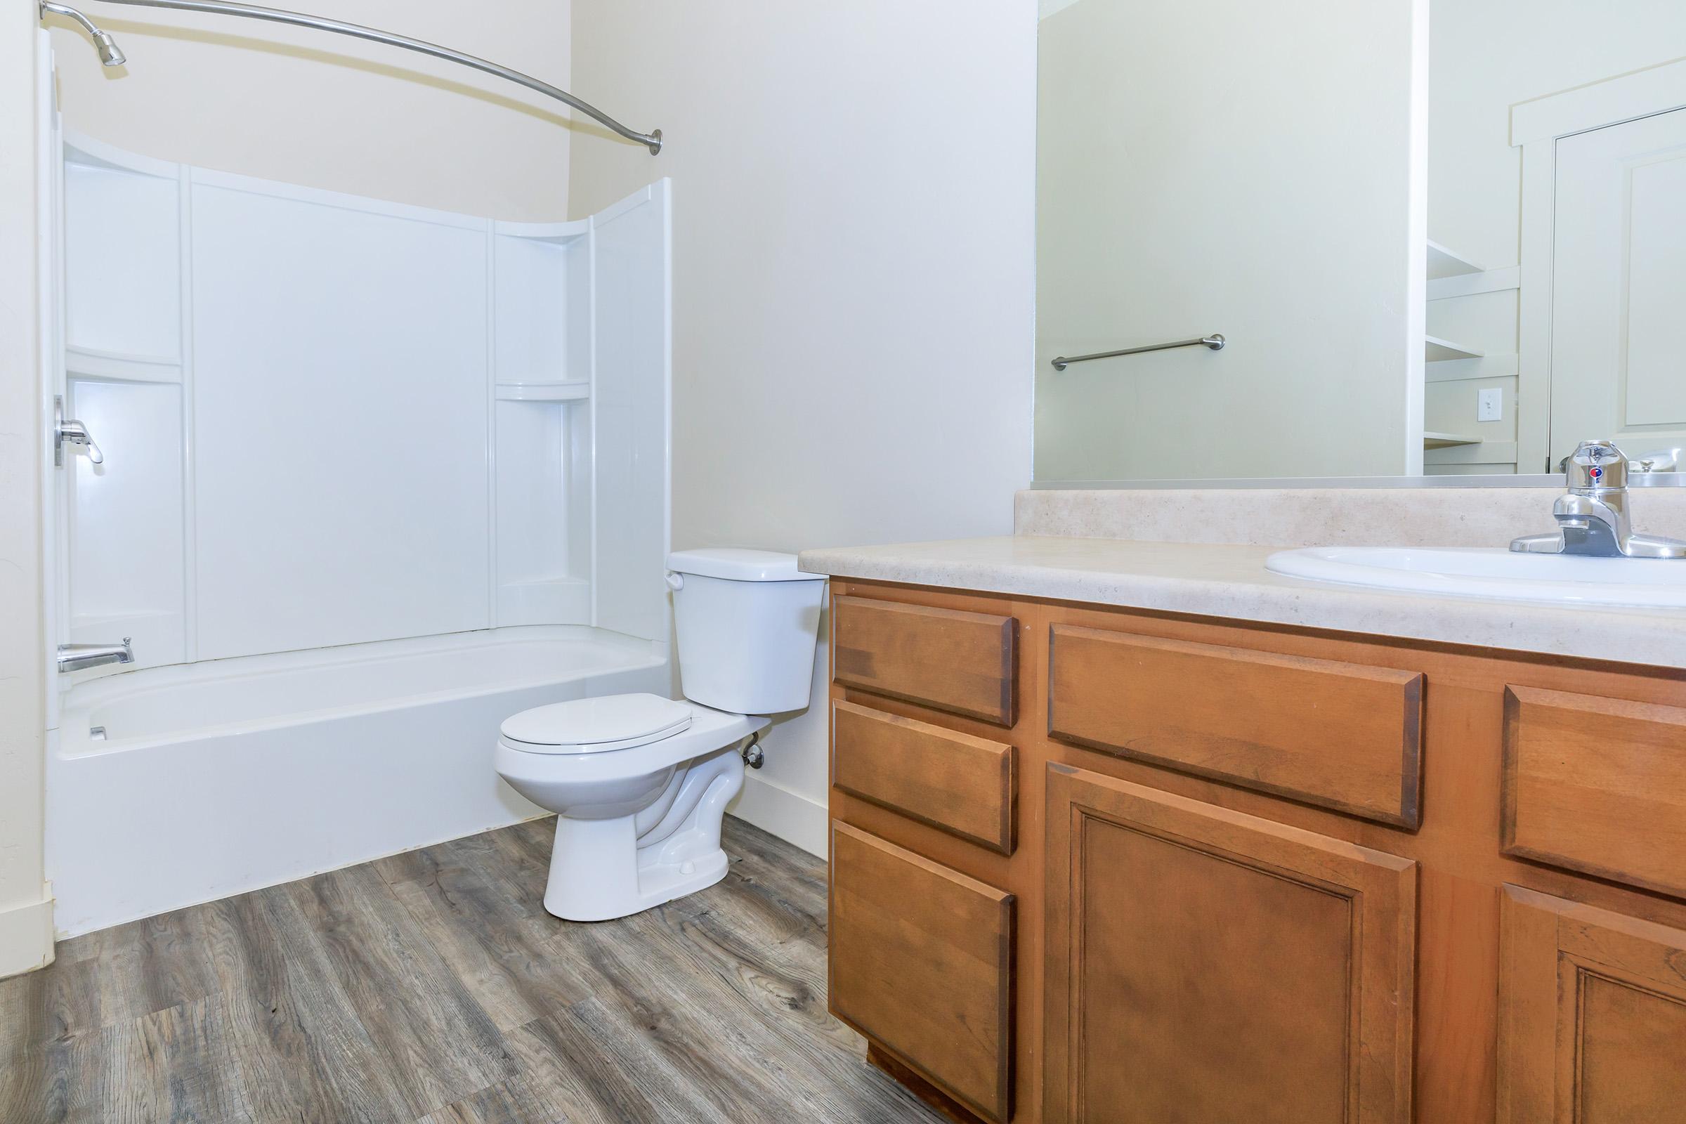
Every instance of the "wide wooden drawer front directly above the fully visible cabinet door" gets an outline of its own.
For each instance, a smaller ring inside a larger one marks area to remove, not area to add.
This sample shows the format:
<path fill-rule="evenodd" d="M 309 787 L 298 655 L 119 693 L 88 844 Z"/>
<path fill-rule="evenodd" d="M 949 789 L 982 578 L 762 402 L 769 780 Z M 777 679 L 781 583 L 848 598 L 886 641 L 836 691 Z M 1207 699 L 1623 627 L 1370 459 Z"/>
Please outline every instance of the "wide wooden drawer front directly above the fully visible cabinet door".
<path fill-rule="evenodd" d="M 1416 827 L 1423 676 L 1076 625 L 1049 637 L 1049 735 Z"/>

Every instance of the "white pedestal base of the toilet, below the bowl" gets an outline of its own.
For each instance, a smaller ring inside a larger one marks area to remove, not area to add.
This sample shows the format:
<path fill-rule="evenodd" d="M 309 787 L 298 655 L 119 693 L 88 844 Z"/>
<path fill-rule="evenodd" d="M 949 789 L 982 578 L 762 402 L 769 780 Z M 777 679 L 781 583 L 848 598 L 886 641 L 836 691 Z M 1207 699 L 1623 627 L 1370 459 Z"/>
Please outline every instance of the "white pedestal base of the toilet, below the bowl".
<path fill-rule="evenodd" d="M 669 816 L 639 836 L 637 816 L 556 817 L 545 910 L 570 922 L 629 917 L 727 876 L 720 824 L 744 787 L 727 748 L 690 762 Z"/>

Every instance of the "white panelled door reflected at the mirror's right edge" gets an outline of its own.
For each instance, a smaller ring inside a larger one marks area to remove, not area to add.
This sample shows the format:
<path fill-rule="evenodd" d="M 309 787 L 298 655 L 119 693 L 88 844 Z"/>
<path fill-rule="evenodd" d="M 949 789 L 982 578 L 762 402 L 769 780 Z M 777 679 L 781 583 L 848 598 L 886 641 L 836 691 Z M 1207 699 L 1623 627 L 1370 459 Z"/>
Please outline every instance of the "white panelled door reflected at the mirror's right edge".
<path fill-rule="evenodd" d="M 1686 447 L 1686 110 L 1558 142 L 1551 463 Z"/>

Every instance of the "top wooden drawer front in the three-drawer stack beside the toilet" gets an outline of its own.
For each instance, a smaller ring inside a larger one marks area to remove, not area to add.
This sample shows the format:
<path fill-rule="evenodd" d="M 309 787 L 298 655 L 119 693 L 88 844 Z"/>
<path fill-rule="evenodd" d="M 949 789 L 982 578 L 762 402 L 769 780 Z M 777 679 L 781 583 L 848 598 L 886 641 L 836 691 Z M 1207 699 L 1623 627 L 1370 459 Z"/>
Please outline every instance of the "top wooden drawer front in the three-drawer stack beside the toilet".
<path fill-rule="evenodd" d="M 865 597 L 833 598 L 831 612 L 838 682 L 1013 725 L 1018 649 L 1012 617 Z"/>

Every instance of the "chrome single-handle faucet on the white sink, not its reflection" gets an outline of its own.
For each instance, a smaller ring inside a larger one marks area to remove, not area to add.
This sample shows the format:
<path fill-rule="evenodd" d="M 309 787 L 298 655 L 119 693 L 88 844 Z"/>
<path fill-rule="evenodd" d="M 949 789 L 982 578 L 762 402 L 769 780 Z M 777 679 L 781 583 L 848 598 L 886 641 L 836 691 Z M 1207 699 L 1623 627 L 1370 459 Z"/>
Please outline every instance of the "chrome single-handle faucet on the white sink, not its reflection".
<path fill-rule="evenodd" d="M 1526 534 L 1511 549 L 1590 558 L 1686 558 L 1686 543 L 1637 534 L 1627 514 L 1627 457 L 1610 442 L 1581 442 L 1563 462 L 1566 495 L 1551 506 L 1558 529 Z"/>

